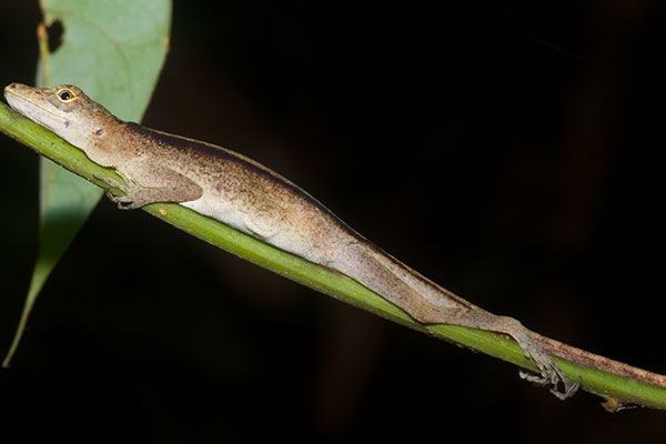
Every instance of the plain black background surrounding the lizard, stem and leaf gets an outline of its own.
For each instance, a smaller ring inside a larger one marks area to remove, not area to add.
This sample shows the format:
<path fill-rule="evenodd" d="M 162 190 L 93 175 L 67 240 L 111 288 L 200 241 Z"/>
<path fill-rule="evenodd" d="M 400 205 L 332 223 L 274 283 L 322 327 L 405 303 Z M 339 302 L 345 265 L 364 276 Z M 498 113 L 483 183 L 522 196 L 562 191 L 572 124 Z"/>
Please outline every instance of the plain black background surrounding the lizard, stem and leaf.
<path fill-rule="evenodd" d="M 3 85 L 33 83 L 32 3 L 0 3 Z M 665 19 L 656 0 L 175 1 L 143 123 L 261 161 L 492 312 L 665 373 Z M 4 353 L 38 158 L 7 138 L 0 153 Z M 664 413 L 598 402 L 559 402 L 104 200 L 0 372 L 0 433 L 663 442 Z"/>

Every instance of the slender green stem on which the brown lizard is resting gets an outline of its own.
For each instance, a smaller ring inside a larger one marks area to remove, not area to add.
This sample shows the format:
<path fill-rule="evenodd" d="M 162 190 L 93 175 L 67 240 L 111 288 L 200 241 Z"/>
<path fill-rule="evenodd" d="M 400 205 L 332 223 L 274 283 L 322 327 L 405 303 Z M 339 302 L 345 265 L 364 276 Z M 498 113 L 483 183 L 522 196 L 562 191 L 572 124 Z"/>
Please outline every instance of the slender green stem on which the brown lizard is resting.
<path fill-rule="evenodd" d="M 100 186 L 103 183 L 95 179 L 95 174 L 121 181 L 113 170 L 91 162 L 82 151 L 62 141 L 42 127 L 20 117 L 3 104 L 0 104 L 0 131 Z M 220 249 L 343 302 L 411 329 L 498 357 L 523 369 L 536 370 L 532 361 L 524 356 L 517 344 L 502 335 L 455 325 L 420 324 L 405 312 L 352 279 L 275 249 L 181 205 L 154 203 L 144 206 L 144 210 L 158 219 Z M 581 375 L 583 377 L 583 390 L 605 397 L 608 408 L 637 404 L 666 410 L 666 387 L 659 384 L 620 376 L 592 365 L 584 365 L 559 357 L 555 357 L 555 361 L 569 379 L 577 380 Z"/>

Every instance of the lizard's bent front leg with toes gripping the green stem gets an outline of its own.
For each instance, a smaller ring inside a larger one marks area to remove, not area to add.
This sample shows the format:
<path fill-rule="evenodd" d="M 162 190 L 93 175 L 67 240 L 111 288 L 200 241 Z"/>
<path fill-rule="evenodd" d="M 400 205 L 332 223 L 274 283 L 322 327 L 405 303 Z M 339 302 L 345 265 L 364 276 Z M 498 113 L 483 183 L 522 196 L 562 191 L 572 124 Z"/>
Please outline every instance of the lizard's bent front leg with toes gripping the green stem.
<path fill-rule="evenodd" d="M 117 203 L 120 210 L 135 210 L 153 202 L 189 202 L 201 198 L 203 194 L 203 189 L 194 181 L 168 168 L 142 169 L 141 179 L 142 182 L 147 183 L 145 185 L 137 183 L 132 176 L 120 170 L 115 172 L 124 180 L 127 185 L 111 178 L 98 174 L 94 176 L 109 185 L 104 188 L 107 196 Z M 117 188 L 125 194 L 114 195 L 109 188 Z"/>

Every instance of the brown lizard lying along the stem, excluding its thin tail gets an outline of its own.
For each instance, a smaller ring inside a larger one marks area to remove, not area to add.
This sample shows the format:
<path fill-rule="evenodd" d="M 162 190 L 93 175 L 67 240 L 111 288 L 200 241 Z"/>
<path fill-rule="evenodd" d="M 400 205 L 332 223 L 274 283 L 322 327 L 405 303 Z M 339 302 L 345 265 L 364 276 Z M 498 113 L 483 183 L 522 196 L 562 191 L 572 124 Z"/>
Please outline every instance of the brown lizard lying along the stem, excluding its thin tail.
<path fill-rule="evenodd" d="M 127 185 L 100 179 L 127 193 L 108 193 L 120 209 L 178 202 L 343 273 L 421 323 L 507 334 L 538 367 L 538 375 L 521 373 L 522 377 L 552 385 L 551 392 L 562 400 L 578 389 L 579 382 L 571 382 L 541 345 L 543 336 L 422 276 L 258 162 L 210 143 L 123 122 L 73 85 L 38 89 L 12 83 L 4 89 L 4 97 L 12 109 L 79 148 L 93 162 L 115 169 Z"/>

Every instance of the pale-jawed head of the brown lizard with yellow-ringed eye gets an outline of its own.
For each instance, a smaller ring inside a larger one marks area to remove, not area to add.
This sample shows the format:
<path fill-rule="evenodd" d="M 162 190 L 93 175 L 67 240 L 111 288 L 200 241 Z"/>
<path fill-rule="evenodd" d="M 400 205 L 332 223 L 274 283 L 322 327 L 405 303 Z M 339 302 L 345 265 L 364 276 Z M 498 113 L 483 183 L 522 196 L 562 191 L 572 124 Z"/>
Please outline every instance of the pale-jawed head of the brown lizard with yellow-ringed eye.
<path fill-rule="evenodd" d="M 104 107 L 71 84 L 32 88 L 11 83 L 4 88 L 4 98 L 14 111 L 88 154 L 109 123 L 119 122 Z"/>

